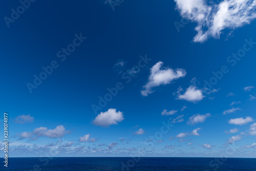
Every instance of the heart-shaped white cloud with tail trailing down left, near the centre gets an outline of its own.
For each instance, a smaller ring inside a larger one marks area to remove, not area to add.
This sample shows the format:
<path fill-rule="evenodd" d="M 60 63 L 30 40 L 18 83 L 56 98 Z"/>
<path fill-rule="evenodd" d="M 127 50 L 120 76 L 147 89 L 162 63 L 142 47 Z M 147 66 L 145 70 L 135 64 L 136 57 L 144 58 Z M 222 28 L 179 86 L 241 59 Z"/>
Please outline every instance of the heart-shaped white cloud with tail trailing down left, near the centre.
<path fill-rule="evenodd" d="M 184 77 L 186 71 L 184 69 L 173 70 L 171 68 L 162 69 L 163 62 L 157 62 L 150 70 L 150 76 L 148 77 L 147 83 L 142 87 L 142 96 L 148 96 L 154 92 L 152 90 L 155 87 L 169 84 L 172 81 Z"/>

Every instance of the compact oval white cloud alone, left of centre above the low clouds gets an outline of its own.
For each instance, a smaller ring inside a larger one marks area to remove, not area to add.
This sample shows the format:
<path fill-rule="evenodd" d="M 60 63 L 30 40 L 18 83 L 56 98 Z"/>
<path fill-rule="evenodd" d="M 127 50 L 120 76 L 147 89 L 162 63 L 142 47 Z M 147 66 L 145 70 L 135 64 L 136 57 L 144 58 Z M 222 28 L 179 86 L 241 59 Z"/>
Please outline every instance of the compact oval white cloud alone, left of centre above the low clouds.
<path fill-rule="evenodd" d="M 124 118 L 122 112 L 116 112 L 116 109 L 109 109 L 106 112 L 101 112 L 98 114 L 92 123 L 96 126 L 107 127 L 110 125 L 118 124 L 117 122 L 121 122 L 123 119 Z"/>

